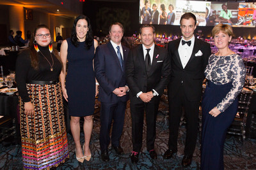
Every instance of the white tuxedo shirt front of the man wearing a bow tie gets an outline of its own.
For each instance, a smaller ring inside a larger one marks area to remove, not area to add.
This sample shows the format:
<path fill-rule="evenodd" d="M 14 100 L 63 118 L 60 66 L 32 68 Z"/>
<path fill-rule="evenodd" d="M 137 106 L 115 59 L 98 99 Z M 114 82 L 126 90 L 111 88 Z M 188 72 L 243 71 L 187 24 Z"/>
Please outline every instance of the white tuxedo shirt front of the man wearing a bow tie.
<path fill-rule="evenodd" d="M 188 44 L 184 44 L 182 45 L 182 40 L 186 41 L 183 37 L 180 39 L 180 45 L 178 48 L 178 52 L 180 55 L 180 61 L 182 64 L 182 67 L 185 68 L 186 65 L 188 64 L 188 61 L 191 57 L 193 48 L 194 48 L 194 44 L 195 44 L 195 36 L 193 36 L 191 39 L 189 39 L 188 41 L 191 41 L 191 45 L 188 46 Z"/>

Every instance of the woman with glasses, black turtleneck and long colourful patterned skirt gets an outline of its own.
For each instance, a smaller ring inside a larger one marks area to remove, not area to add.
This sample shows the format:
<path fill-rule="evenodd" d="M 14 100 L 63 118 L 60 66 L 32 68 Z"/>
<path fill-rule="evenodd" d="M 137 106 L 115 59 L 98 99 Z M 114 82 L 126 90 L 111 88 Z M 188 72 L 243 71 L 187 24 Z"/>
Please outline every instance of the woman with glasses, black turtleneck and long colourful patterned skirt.
<path fill-rule="evenodd" d="M 60 72 L 49 28 L 38 25 L 29 49 L 20 53 L 16 64 L 24 169 L 57 167 L 69 157 Z"/>

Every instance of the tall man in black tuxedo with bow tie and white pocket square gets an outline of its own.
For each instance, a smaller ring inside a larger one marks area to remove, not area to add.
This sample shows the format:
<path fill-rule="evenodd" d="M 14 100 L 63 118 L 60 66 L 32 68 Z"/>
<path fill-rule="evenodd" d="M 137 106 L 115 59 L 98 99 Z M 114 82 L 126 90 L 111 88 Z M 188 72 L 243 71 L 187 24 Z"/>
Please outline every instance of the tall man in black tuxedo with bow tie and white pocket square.
<path fill-rule="evenodd" d="M 180 18 L 182 38 L 168 43 L 172 63 L 172 74 L 168 85 L 169 130 L 168 150 L 164 159 L 170 159 L 177 152 L 177 138 L 182 108 L 186 118 L 186 144 L 183 166 L 189 166 L 193 157 L 198 133 L 198 112 L 202 97 L 204 70 L 211 55 L 209 43 L 195 38 L 196 17 L 184 13 Z"/>

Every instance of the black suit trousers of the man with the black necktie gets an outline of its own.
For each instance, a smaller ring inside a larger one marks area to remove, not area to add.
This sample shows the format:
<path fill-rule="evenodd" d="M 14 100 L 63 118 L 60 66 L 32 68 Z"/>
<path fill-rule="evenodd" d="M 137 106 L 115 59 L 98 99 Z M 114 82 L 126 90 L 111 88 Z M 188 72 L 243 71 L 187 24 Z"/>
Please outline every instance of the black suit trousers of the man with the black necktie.
<path fill-rule="evenodd" d="M 132 117 L 132 150 L 140 152 L 143 138 L 144 111 L 146 113 L 147 124 L 147 150 L 154 149 L 156 139 L 156 115 L 158 111 L 160 97 L 154 96 L 151 101 L 144 103 L 140 97 L 131 97 L 131 117 Z"/>

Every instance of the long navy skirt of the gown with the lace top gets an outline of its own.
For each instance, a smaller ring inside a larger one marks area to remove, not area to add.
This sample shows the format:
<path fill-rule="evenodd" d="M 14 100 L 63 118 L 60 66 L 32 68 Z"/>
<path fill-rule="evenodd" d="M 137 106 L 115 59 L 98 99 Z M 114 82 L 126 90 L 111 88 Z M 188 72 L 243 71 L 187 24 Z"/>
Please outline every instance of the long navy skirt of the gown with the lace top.
<path fill-rule="evenodd" d="M 223 148 L 227 129 L 232 124 L 237 113 L 237 98 L 217 117 L 212 117 L 212 110 L 232 88 L 232 84 L 215 85 L 208 81 L 202 101 L 202 145 L 201 169 L 224 169 Z"/>

